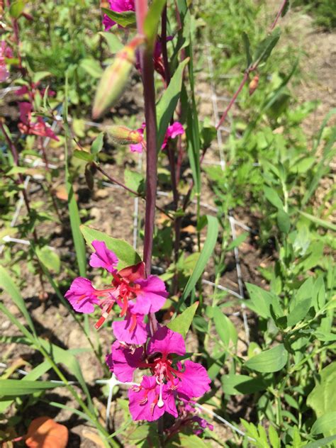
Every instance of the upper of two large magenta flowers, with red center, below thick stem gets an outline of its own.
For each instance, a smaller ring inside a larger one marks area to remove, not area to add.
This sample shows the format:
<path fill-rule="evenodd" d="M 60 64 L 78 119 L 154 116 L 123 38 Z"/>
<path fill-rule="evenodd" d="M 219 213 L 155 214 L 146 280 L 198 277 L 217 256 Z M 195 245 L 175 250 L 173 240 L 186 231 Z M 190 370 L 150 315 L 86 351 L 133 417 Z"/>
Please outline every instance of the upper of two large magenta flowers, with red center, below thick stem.
<path fill-rule="evenodd" d="M 167 298 L 164 282 L 157 276 L 145 278 L 145 264 L 118 271 L 118 257 L 108 250 L 106 243 L 92 242 L 94 254 L 90 258 L 91 267 L 102 267 L 112 276 L 111 285 L 106 289 L 95 289 L 91 281 L 78 277 L 74 279 L 65 298 L 79 313 L 92 313 L 94 305 L 101 308 L 101 318 L 95 327 L 98 330 L 108 317 L 115 303 L 121 308 L 120 317 L 124 320 L 113 322 L 113 332 L 118 340 L 128 344 L 143 344 L 147 340 L 144 317 L 155 313 L 164 305 Z"/>

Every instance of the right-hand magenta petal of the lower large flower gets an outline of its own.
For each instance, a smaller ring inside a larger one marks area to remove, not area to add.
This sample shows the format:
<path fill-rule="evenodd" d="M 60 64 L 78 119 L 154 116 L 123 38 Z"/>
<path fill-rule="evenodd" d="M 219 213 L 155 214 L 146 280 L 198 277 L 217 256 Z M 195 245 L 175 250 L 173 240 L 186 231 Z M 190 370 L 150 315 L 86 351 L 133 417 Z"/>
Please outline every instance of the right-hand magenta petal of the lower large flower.
<path fill-rule="evenodd" d="M 179 379 L 181 382 L 178 386 L 178 392 L 189 398 L 201 397 L 204 393 L 210 391 L 211 379 L 206 369 L 198 362 L 184 362 L 184 371 L 179 373 Z"/>

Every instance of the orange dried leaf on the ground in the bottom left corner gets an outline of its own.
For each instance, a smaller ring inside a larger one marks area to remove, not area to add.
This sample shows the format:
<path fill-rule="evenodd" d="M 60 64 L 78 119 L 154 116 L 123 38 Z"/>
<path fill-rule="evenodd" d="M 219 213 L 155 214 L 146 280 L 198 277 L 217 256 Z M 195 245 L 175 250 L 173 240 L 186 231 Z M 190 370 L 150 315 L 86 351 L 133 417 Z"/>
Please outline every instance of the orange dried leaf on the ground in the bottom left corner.
<path fill-rule="evenodd" d="M 50 417 L 39 417 L 30 423 L 26 437 L 29 448 L 66 448 L 69 431 Z"/>

